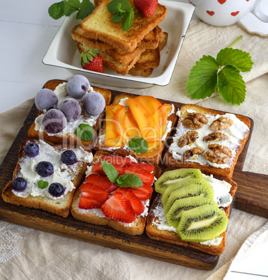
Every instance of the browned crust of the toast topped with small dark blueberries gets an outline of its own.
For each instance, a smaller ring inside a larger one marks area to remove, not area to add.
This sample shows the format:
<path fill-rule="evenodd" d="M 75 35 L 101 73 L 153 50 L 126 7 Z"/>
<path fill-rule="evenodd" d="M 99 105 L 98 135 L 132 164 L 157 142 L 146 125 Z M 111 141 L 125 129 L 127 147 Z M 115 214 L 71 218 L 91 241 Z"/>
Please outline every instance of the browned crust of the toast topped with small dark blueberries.
<path fill-rule="evenodd" d="M 18 161 L 15 166 L 15 170 L 13 171 L 13 180 L 17 177 L 18 173 L 20 172 L 20 159 L 26 157 L 24 153 L 24 147 L 28 141 L 34 141 L 36 143 L 40 142 L 39 139 L 34 137 L 25 138 L 22 142 L 22 146 L 20 147 Z M 68 146 L 54 146 L 52 143 L 48 143 L 49 145 L 53 146 L 55 150 L 68 150 Z M 73 148 L 73 147 L 72 147 Z M 91 153 L 91 150 L 87 150 L 87 152 Z M 87 163 L 86 162 L 78 162 L 77 164 L 77 174 L 73 178 L 72 182 L 75 187 L 79 187 L 84 180 L 84 174 L 87 171 Z M 22 205 L 27 208 L 36 208 L 45 210 L 47 212 L 52 212 L 56 215 L 61 217 L 68 217 L 70 213 L 70 204 L 73 199 L 73 194 L 75 194 L 75 189 L 71 192 L 67 192 L 64 197 L 61 199 L 57 199 L 57 202 L 54 199 L 49 199 L 42 196 L 31 196 L 29 194 L 27 197 L 20 197 L 16 196 L 13 192 L 12 180 L 8 182 L 6 187 L 3 189 L 2 198 L 3 201 L 6 203 L 11 203 L 14 205 Z"/>

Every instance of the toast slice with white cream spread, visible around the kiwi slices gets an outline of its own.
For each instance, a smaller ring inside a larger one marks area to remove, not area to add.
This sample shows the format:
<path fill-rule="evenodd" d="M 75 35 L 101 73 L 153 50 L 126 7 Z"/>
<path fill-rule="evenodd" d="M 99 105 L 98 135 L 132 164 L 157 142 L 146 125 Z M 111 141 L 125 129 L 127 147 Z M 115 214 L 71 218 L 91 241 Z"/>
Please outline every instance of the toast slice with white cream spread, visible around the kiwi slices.
<path fill-rule="evenodd" d="M 222 187 L 221 184 L 223 184 L 225 192 L 229 192 L 228 195 L 233 199 L 234 194 L 237 190 L 237 184 L 233 180 L 205 175 L 204 178 L 207 178 L 209 180 L 209 184 L 214 188 L 214 197 L 218 196 L 218 193 L 216 193 L 216 185 L 218 185 L 218 183 L 220 182 L 219 186 Z M 226 185 L 229 185 L 229 187 L 225 188 Z M 217 202 L 221 201 L 221 195 L 225 196 L 225 192 L 220 192 L 220 196 L 214 200 Z M 211 255 L 223 254 L 223 252 L 225 251 L 226 231 L 221 233 L 221 235 L 219 235 L 217 238 L 214 238 L 214 240 L 209 240 L 207 242 L 188 242 L 181 240 L 177 233 L 177 229 L 168 225 L 161 197 L 161 194 L 158 194 L 156 196 L 149 210 L 149 215 L 147 216 L 146 233 L 149 238 L 162 242 L 168 242 L 171 244 L 181 245 L 184 247 L 191 247 L 193 249 L 197 249 Z M 229 203 L 231 203 L 232 199 L 230 199 Z M 224 207 L 219 205 L 219 208 L 221 208 L 225 212 L 225 215 L 229 217 L 230 204 L 225 204 Z"/>

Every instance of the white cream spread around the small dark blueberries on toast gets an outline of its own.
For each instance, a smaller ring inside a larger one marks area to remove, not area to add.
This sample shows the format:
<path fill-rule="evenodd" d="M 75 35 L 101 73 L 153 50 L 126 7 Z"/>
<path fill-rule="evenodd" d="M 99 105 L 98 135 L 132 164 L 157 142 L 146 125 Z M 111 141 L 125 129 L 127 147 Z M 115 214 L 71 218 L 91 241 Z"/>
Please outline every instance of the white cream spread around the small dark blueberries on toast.
<path fill-rule="evenodd" d="M 61 199 L 67 192 L 71 192 L 75 187 L 72 180 L 77 176 L 79 169 L 77 168 L 79 162 L 91 162 L 93 155 L 83 150 L 82 148 L 70 149 L 75 152 L 77 157 L 77 163 L 66 165 L 61 162 L 61 152 L 54 150 L 52 146 L 45 143 L 42 140 L 38 140 L 39 154 L 36 157 L 27 157 L 24 156 L 19 160 L 20 171 L 17 174 L 17 177 L 23 177 L 27 180 L 27 189 L 23 192 L 16 192 L 13 189 L 13 193 L 16 196 L 27 197 L 31 196 L 42 196 L 49 199 Z M 54 173 L 48 177 L 41 177 L 36 172 L 36 166 L 39 162 L 46 161 L 51 162 L 54 168 Z M 38 187 L 38 181 L 44 180 L 49 183 L 45 189 L 40 189 Z M 49 186 L 52 182 L 59 182 L 65 188 L 65 192 L 62 196 L 54 197 L 51 196 L 48 192 Z"/>

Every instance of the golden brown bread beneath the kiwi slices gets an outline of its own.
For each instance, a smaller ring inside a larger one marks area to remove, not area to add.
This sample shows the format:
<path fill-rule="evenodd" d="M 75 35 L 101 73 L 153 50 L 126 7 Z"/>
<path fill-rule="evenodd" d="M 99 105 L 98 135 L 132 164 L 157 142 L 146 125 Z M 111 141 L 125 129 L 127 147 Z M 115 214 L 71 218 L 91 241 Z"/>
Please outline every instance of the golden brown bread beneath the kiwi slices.
<path fill-rule="evenodd" d="M 217 180 L 225 180 L 225 182 L 228 182 L 231 185 L 230 195 L 233 198 L 237 190 L 237 184 L 231 179 L 220 177 L 215 178 Z M 224 210 L 226 216 L 229 217 L 230 205 L 221 209 Z M 222 238 L 219 240 L 219 244 L 201 244 L 200 242 L 188 242 L 181 240 L 176 229 L 168 226 L 168 221 L 165 217 L 165 210 L 163 209 L 163 204 L 161 201 L 161 194 L 156 196 L 149 210 L 149 215 L 147 216 L 146 233 L 151 239 L 185 247 L 191 247 L 211 255 L 220 255 L 225 251 L 226 231 L 218 236 L 218 238 Z"/>

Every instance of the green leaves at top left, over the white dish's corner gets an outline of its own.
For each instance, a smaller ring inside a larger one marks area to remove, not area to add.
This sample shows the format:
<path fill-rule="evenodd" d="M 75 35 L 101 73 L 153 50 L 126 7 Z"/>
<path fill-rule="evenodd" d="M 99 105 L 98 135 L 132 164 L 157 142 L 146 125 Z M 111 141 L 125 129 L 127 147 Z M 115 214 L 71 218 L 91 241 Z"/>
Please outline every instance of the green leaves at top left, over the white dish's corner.
<path fill-rule="evenodd" d="M 94 11 L 94 4 L 89 0 L 64 0 L 58 3 L 54 3 L 48 8 L 48 13 L 50 17 L 54 20 L 59 20 L 59 18 L 69 17 L 76 11 L 78 11 L 76 15 L 77 20 L 84 20 L 85 17 L 90 15 Z"/>

